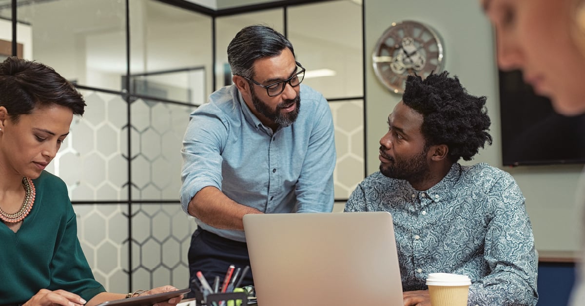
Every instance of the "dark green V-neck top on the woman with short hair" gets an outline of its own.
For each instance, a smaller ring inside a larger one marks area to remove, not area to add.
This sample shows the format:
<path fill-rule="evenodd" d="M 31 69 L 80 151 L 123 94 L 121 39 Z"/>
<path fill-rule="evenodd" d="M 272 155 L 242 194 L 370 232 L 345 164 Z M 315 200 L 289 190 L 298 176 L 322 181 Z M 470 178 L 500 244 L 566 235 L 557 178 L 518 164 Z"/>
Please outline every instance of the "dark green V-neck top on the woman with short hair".
<path fill-rule="evenodd" d="M 105 289 L 81 250 L 67 187 L 46 171 L 33 183 L 35 204 L 18 232 L 0 222 L 0 304 L 23 303 L 42 288 L 89 301 Z"/>

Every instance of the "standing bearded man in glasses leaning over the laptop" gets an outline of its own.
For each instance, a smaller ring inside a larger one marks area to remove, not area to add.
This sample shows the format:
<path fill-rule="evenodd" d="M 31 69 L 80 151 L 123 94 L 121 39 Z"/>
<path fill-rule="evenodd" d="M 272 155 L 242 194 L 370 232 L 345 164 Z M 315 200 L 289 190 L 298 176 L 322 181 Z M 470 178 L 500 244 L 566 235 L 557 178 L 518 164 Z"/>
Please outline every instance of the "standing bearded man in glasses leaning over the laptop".
<path fill-rule="evenodd" d="M 197 271 L 223 280 L 230 264 L 250 264 L 244 215 L 333 209 L 333 119 L 323 95 L 301 85 L 292 44 L 248 26 L 230 42 L 228 61 L 234 84 L 191 114 L 183 140 L 181 204 L 198 225 L 191 280 Z M 242 285 L 253 283 L 245 277 Z"/>

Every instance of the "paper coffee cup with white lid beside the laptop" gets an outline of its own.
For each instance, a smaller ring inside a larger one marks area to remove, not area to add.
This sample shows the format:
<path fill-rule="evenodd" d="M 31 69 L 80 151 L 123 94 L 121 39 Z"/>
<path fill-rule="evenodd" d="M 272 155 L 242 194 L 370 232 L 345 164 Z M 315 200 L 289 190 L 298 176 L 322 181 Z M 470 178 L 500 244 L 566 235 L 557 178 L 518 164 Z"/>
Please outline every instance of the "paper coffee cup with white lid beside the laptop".
<path fill-rule="evenodd" d="M 466 275 L 430 273 L 426 279 L 432 306 L 467 306 L 471 279 Z"/>

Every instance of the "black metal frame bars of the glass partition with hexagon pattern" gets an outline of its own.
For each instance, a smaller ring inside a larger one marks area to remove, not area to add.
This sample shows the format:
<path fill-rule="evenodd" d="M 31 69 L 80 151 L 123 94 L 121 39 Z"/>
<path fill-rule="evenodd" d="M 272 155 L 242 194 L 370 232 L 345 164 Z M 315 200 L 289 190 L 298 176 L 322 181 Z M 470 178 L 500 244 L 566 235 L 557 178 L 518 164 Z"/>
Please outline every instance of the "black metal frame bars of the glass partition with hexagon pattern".
<path fill-rule="evenodd" d="M 211 26 L 211 30 L 212 30 L 212 43 L 211 43 L 211 48 L 212 48 L 212 67 L 215 67 L 215 63 L 216 63 L 216 18 L 217 17 L 221 17 L 221 16 L 229 16 L 229 15 L 238 15 L 241 13 L 247 13 L 247 12 L 256 12 L 256 11 L 262 11 L 262 10 L 266 10 L 266 9 L 276 9 L 276 8 L 281 8 L 283 9 L 283 23 L 284 23 L 284 35 L 287 36 L 288 35 L 288 6 L 296 6 L 296 5 L 304 5 L 304 4 L 312 4 L 312 3 L 317 3 L 317 2 L 328 2 L 328 1 L 335 1 L 335 0 L 279 0 L 279 1 L 273 1 L 273 2 L 266 2 L 263 4 L 256 4 L 256 5 L 247 5 L 247 6 L 240 6 L 238 8 L 228 8 L 228 9 L 218 9 L 218 10 L 213 10 L 213 9 L 209 9 L 206 8 L 204 6 L 201 5 L 197 5 L 197 4 L 193 4 L 192 2 L 187 2 L 184 0 L 156 0 L 159 2 L 163 2 L 165 4 L 169 4 L 169 5 L 173 5 L 176 6 L 177 8 L 183 8 L 186 9 L 188 11 L 192 11 L 192 12 L 198 12 L 198 13 L 202 13 L 204 15 L 210 16 L 212 18 L 212 26 Z M 365 2 L 365 1 L 364 1 Z M 130 71 L 130 11 L 129 11 L 129 0 L 125 0 L 125 4 L 126 4 L 126 12 L 125 12 L 125 17 L 126 17 L 126 76 L 130 76 L 131 71 Z M 12 54 L 15 56 L 17 54 L 17 46 L 18 44 L 16 43 L 16 37 L 17 37 L 17 33 L 16 33 L 16 26 L 18 24 L 18 18 L 17 18 L 17 13 L 18 13 L 18 2 L 17 0 L 12 0 Z M 365 33 L 365 13 L 364 13 L 364 6 L 365 3 L 362 5 L 362 37 L 363 37 L 363 42 L 362 42 L 362 48 L 363 50 L 366 50 L 366 46 L 365 46 L 365 37 L 366 37 L 366 33 Z M 362 74 L 365 75 L 365 67 L 366 67 L 366 58 L 365 56 L 363 57 L 363 70 L 362 70 Z M 215 70 L 212 70 L 212 88 L 216 88 L 216 73 Z M 130 88 L 130 78 L 126 77 L 125 78 L 125 82 L 126 82 L 126 88 Z M 147 95 L 138 95 L 138 94 L 132 94 L 129 91 L 113 91 L 113 90 L 106 90 L 104 88 L 95 88 L 95 87 L 90 87 L 90 86 L 85 86 L 85 85 L 78 85 L 78 84 L 74 84 L 75 87 L 82 89 L 82 90 L 91 90 L 91 91 L 97 91 L 97 92 L 106 92 L 109 94 L 117 94 L 117 95 L 121 95 L 121 97 L 123 97 L 123 99 L 126 101 L 127 104 L 127 112 L 128 112 L 128 125 L 130 125 L 131 121 L 131 104 L 133 102 L 133 98 L 142 98 L 142 99 L 150 99 L 152 101 L 157 101 L 157 102 L 163 102 L 163 103 L 170 103 L 170 104 L 177 104 L 177 105 L 184 105 L 184 106 L 197 106 L 197 105 L 193 105 L 193 104 L 188 104 L 185 102 L 180 102 L 180 101 L 172 101 L 172 100 L 168 100 L 168 99 L 161 99 L 161 98 L 156 98 L 156 97 L 149 97 Z M 366 95 L 365 95 L 365 88 L 366 88 L 366 80 L 365 78 L 363 78 L 363 88 L 364 88 L 364 95 L 363 97 L 347 97 L 347 98 L 332 98 L 332 99 L 328 99 L 329 102 L 337 102 L 337 101 L 350 101 L 353 99 L 362 99 L 364 102 L 363 108 L 364 108 L 364 114 L 363 114 L 363 121 L 364 123 L 367 122 L 366 121 Z M 367 140 L 366 140 L 366 125 L 364 125 L 363 127 L 364 129 L 364 161 L 367 161 Z M 125 216 L 128 218 L 128 239 L 125 240 L 125 242 L 128 242 L 128 267 L 129 270 L 125 270 L 125 273 L 128 274 L 128 290 L 131 290 L 132 288 L 132 241 L 133 241 L 133 235 L 132 235 L 132 216 L 135 215 L 132 212 L 132 204 L 178 204 L 179 201 L 176 200 L 161 200 L 161 201 L 149 201 L 149 200 L 133 200 L 132 198 L 132 143 L 131 143 L 131 139 L 132 139 L 132 135 L 131 135 L 131 129 L 128 128 L 128 156 L 125 157 L 126 160 L 128 160 L 128 182 L 126 184 L 128 184 L 128 200 L 124 200 L 124 201 L 72 201 L 73 204 L 75 205 L 95 205 L 95 204 L 127 204 L 127 208 L 128 208 L 128 215 L 125 214 Z M 367 163 L 364 163 L 364 177 L 367 176 L 367 167 L 366 167 Z M 335 201 L 347 201 L 347 199 L 335 199 Z"/>

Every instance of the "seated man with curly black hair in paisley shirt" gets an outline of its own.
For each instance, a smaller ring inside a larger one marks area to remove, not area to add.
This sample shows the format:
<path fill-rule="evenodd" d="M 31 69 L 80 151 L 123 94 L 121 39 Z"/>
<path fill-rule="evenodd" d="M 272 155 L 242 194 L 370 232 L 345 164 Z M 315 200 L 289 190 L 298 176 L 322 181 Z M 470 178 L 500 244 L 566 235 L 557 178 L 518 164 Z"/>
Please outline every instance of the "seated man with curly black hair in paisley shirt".
<path fill-rule="evenodd" d="M 510 174 L 462 166 L 491 145 L 486 97 L 448 72 L 408 77 L 380 139 L 380 171 L 345 211 L 393 215 L 404 305 L 431 305 L 429 273 L 472 279 L 469 305 L 536 305 L 538 255 L 524 196 Z"/>

